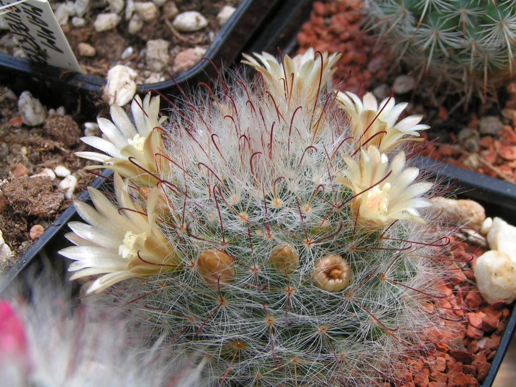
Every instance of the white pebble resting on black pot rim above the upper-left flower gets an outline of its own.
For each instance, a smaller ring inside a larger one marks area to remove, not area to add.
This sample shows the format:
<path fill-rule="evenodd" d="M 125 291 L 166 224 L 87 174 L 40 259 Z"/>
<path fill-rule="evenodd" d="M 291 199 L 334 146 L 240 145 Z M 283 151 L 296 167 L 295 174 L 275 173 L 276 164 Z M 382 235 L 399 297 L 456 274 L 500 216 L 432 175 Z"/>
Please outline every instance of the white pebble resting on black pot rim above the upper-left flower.
<path fill-rule="evenodd" d="M 104 95 L 109 104 L 124 106 L 131 102 L 136 94 L 135 79 L 138 73 L 130 67 L 117 65 L 107 72 L 107 84 Z"/>

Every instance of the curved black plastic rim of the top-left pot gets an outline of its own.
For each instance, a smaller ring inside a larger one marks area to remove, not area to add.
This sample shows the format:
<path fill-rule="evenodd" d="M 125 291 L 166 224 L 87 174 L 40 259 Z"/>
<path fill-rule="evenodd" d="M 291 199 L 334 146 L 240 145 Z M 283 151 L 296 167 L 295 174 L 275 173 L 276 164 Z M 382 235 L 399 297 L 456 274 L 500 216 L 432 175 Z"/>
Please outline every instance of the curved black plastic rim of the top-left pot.
<path fill-rule="evenodd" d="M 280 3 L 281 0 L 243 0 L 208 47 L 205 57 L 217 66 L 231 65 Z M 210 63 L 201 60 L 191 69 L 175 77 L 175 82 L 167 80 L 138 85 L 137 93 L 144 94 L 150 89 L 155 89 L 164 94 L 177 94 L 175 83 L 180 86 L 193 86 L 198 82 L 208 83 L 215 75 L 216 72 Z M 26 59 L 0 53 L 0 84 L 7 85 L 14 91 L 30 90 L 38 98 L 45 90 L 51 90 L 52 93 L 61 95 L 70 94 L 73 99 L 76 99 L 78 94 L 80 98 L 93 104 L 100 100 L 105 83 L 105 78 L 60 70 L 52 66 L 38 68 Z M 66 103 L 65 107 L 68 108 Z"/>

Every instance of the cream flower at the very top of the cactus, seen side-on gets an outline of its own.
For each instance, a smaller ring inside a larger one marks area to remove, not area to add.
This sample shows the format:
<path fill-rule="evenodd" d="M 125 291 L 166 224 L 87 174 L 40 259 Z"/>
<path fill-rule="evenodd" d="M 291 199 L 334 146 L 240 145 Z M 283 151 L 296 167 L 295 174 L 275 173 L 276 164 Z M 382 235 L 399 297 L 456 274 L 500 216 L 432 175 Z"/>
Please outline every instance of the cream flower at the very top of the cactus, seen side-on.
<path fill-rule="evenodd" d="M 341 54 L 324 52 L 316 55 L 310 48 L 304 54 L 294 58 L 285 55 L 283 62 L 268 53 L 253 55 L 243 54 L 246 60 L 242 63 L 259 71 L 267 89 L 275 98 L 285 99 L 288 106 L 307 107 L 311 111 L 320 93 L 331 79 L 336 68 L 332 68 Z M 322 57 L 322 63 L 321 63 Z"/>

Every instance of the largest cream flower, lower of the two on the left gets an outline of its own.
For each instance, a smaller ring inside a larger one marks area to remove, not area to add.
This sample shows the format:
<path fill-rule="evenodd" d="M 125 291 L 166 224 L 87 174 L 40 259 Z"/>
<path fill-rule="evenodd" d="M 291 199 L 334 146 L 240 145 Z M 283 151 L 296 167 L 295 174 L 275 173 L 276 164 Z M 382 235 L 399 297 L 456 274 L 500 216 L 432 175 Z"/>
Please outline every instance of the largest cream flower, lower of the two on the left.
<path fill-rule="evenodd" d="M 88 293 L 98 293 L 127 278 L 152 276 L 176 267 L 178 254 L 155 224 L 158 188 L 149 194 L 148 216 L 133 203 L 118 173 L 115 196 L 119 207 L 98 190 L 88 191 L 96 211 L 86 203 L 74 202 L 89 224 L 70 222 L 73 233 L 66 237 L 77 246 L 59 251 L 75 261 L 68 269 L 75 272 L 71 280 L 103 274 L 88 288 Z"/>

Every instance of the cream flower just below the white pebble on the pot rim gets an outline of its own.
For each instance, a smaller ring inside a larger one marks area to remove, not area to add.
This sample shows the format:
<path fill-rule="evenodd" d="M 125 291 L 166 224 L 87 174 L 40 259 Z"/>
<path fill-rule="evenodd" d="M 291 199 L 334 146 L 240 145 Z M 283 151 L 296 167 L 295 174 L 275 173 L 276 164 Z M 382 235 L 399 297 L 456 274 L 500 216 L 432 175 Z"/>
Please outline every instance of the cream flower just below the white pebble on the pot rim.
<path fill-rule="evenodd" d="M 105 118 L 97 120 L 102 138 L 81 138 L 83 142 L 104 153 L 76 152 L 76 155 L 103 163 L 87 169 L 108 168 L 136 184 L 154 186 L 156 179 L 145 170 L 154 174 L 158 168 L 163 167 L 163 158 L 155 156 L 156 153 L 163 152 L 161 133 L 155 128 L 161 127 L 167 117 L 158 117 L 159 97 L 151 98 L 150 94 L 143 101 L 137 95 L 131 104 L 131 110 L 136 126 L 120 106 L 111 105 L 113 122 Z"/>

